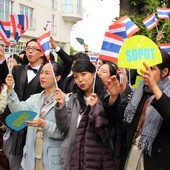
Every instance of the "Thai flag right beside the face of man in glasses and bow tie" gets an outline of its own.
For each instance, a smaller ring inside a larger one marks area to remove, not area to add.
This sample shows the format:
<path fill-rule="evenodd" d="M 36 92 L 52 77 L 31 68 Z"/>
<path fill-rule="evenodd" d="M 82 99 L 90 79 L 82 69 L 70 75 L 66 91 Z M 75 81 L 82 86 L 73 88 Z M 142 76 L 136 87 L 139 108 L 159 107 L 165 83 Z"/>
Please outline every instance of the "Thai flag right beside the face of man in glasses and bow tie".
<path fill-rule="evenodd" d="M 50 31 L 41 35 L 37 39 L 37 43 L 39 44 L 41 50 L 44 52 L 44 55 L 47 57 L 47 60 L 49 60 L 50 59 Z"/>

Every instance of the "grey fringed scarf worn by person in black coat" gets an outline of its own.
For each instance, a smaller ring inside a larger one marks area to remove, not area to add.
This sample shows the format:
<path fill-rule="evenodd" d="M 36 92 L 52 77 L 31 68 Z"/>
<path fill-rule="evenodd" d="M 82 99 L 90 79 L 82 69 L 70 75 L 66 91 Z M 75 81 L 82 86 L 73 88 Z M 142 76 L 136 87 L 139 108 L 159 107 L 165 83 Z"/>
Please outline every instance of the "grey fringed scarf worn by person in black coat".
<path fill-rule="evenodd" d="M 158 87 L 163 93 L 170 97 L 170 79 L 168 77 L 165 77 L 163 80 L 159 81 Z M 141 101 L 141 98 L 143 96 L 143 93 L 144 83 L 141 83 L 139 87 L 135 90 L 133 97 L 131 98 L 125 109 L 124 113 L 125 122 L 129 124 L 132 122 L 135 112 L 138 108 L 139 102 Z M 147 106 L 145 113 L 145 122 L 141 132 L 138 147 L 142 151 L 144 150 L 150 156 L 152 151 L 152 143 L 159 132 L 159 129 L 162 125 L 162 121 L 163 118 L 157 112 L 157 110 L 152 105 Z"/>

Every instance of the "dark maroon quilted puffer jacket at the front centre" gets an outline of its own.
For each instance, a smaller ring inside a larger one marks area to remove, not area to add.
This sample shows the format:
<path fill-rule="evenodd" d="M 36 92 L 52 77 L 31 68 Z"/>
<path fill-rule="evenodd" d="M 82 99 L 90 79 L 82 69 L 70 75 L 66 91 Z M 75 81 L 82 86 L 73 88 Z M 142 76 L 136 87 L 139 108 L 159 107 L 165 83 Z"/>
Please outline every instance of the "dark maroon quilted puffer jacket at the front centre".
<path fill-rule="evenodd" d="M 94 110 L 87 107 L 76 132 L 70 169 L 114 170 L 110 131 L 102 104 L 98 102 Z"/>

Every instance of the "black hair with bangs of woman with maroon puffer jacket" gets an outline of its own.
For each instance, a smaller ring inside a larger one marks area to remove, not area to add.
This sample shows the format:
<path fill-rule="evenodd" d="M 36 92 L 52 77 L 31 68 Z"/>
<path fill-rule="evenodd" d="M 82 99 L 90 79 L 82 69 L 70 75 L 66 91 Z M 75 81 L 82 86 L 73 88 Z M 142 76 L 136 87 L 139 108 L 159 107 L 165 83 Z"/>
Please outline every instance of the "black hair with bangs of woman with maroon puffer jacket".
<path fill-rule="evenodd" d="M 96 72 L 96 67 L 88 60 L 78 60 L 72 67 L 72 71 L 74 72 L 90 72 L 90 73 L 95 73 Z M 86 108 L 86 102 L 84 99 L 84 91 L 82 89 L 80 89 L 76 84 L 74 84 L 74 88 L 73 88 L 73 93 L 77 93 L 78 94 L 78 100 L 80 102 L 80 107 L 82 112 L 85 110 Z M 94 93 L 97 94 L 98 98 L 103 101 L 104 98 L 104 84 L 102 82 L 102 80 L 100 79 L 100 77 L 96 74 L 96 80 L 95 80 L 95 87 L 94 87 Z"/>

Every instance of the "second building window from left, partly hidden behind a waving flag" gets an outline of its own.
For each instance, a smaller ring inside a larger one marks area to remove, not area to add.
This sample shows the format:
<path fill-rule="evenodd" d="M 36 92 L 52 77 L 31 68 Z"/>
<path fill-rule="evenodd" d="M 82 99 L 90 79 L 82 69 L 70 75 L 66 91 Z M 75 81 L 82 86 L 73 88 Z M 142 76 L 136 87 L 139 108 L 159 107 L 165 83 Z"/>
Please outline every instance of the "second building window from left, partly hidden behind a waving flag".
<path fill-rule="evenodd" d="M 33 8 L 20 4 L 20 14 L 28 16 L 28 28 L 35 29 L 35 20 L 33 18 Z"/>

